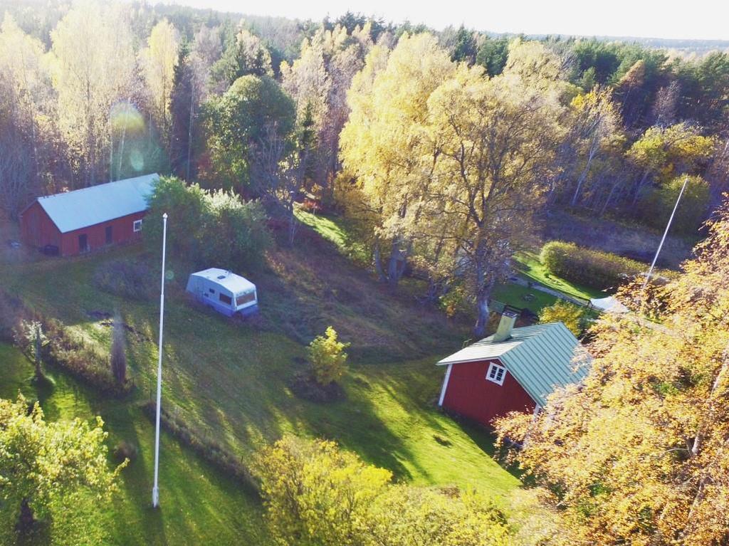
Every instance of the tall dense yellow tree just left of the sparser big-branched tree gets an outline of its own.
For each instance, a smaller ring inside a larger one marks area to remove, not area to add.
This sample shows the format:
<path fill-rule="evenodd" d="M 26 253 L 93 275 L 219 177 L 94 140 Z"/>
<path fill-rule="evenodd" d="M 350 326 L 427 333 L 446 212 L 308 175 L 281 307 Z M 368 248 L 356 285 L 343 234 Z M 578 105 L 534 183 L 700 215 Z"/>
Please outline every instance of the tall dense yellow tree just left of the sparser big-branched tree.
<path fill-rule="evenodd" d="M 340 159 L 380 218 L 373 237 L 375 268 L 393 285 L 405 271 L 411 220 L 419 217 L 422 188 L 437 157 L 437 148 L 424 138 L 427 101 L 455 69 L 433 36 L 405 34 L 389 55 L 380 47 L 370 51 L 348 93 L 351 114 L 340 136 Z M 386 267 L 381 256 L 387 257 Z"/>

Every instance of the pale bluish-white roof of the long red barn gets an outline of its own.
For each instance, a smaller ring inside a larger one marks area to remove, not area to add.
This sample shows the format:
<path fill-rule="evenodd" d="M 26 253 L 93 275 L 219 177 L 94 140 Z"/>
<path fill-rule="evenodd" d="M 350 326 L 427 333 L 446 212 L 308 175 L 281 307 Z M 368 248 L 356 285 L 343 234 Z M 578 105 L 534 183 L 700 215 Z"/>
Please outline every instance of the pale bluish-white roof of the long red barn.
<path fill-rule="evenodd" d="M 38 203 L 61 233 L 67 233 L 146 211 L 147 196 L 159 178 L 157 173 L 145 174 L 40 197 Z"/>

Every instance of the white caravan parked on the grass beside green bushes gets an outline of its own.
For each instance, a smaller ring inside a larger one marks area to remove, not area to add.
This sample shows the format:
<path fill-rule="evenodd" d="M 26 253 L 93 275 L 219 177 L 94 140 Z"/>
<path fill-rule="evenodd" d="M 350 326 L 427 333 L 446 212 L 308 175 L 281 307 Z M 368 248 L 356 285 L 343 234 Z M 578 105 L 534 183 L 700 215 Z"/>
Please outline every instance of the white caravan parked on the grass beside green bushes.
<path fill-rule="evenodd" d="M 258 311 L 256 285 L 224 269 L 209 268 L 192 273 L 187 279 L 187 292 L 226 316 L 250 315 Z"/>

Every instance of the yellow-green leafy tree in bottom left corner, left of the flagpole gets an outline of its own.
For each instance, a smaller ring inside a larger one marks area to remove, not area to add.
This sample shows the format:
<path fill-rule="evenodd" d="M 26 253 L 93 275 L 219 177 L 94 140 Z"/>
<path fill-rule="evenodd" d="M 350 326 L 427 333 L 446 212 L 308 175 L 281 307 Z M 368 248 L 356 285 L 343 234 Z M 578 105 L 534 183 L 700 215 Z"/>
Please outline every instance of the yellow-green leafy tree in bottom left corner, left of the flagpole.
<path fill-rule="evenodd" d="M 51 507 L 79 491 L 109 499 L 126 463 L 110 470 L 106 462 L 106 432 L 97 417 L 91 425 L 74 421 L 44 421 L 36 402 L 0 399 L 0 531 L 30 534 L 38 518 L 51 518 Z"/>

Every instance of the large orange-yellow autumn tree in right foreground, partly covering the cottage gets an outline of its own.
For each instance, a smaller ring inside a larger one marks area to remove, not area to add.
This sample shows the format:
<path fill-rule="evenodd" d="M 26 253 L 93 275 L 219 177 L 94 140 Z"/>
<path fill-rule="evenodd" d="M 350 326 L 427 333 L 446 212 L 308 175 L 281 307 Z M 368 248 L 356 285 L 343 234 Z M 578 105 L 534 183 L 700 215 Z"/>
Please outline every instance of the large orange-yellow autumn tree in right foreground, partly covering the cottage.
<path fill-rule="evenodd" d="M 558 543 L 710 545 L 729 538 L 729 208 L 664 287 L 620 295 L 639 313 L 591 332 L 585 381 L 499 440 L 558 507 Z M 640 315 L 639 315 L 640 316 Z"/>

